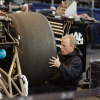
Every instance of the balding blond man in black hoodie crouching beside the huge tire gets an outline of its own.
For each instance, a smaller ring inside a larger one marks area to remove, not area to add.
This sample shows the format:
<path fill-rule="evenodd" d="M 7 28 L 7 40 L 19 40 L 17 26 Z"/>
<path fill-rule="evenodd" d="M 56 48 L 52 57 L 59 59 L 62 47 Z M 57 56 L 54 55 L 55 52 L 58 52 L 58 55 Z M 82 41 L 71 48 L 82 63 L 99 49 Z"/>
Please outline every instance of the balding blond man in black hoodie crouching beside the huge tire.
<path fill-rule="evenodd" d="M 77 41 L 72 35 L 62 38 L 61 52 L 58 53 L 57 58 L 52 57 L 48 62 L 49 67 L 55 67 L 52 78 L 44 85 L 35 86 L 31 89 L 31 93 L 77 90 L 82 72 L 82 53 L 76 48 L 76 44 Z"/>

